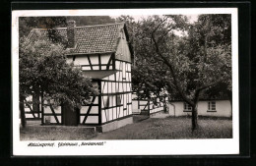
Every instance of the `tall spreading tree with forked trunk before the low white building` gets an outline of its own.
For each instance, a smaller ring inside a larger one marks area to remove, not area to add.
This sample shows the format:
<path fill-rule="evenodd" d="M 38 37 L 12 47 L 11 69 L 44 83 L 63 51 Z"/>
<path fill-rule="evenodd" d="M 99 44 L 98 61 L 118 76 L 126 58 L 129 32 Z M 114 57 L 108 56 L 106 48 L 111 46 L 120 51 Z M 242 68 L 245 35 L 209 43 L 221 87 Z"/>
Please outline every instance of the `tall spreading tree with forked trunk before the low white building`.
<path fill-rule="evenodd" d="M 230 83 L 229 29 L 226 15 L 202 15 L 195 24 L 177 15 L 152 16 L 140 23 L 136 56 L 155 66 L 149 76 L 155 80 L 154 73 L 159 73 L 169 93 L 191 105 L 192 130 L 198 128 L 199 96 L 220 83 Z M 177 31 L 183 35 L 175 35 Z"/>

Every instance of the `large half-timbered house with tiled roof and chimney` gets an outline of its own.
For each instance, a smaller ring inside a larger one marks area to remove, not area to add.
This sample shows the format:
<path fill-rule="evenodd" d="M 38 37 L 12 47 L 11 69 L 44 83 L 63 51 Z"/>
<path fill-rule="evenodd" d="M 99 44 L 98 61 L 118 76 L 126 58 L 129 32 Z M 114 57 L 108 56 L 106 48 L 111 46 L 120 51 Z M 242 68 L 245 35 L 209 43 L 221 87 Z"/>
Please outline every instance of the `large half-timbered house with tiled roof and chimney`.
<path fill-rule="evenodd" d="M 36 28 L 29 35 L 30 40 L 36 38 L 38 30 L 47 37 L 46 29 Z M 98 88 L 99 95 L 92 96 L 92 102 L 79 110 L 68 106 L 42 107 L 41 123 L 93 126 L 118 121 L 132 123 L 131 51 L 125 24 L 76 27 L 74 21 L 69 21 L 67 28 L 56 30 L 68 40 L 67 62 L 81 68 Z"/>

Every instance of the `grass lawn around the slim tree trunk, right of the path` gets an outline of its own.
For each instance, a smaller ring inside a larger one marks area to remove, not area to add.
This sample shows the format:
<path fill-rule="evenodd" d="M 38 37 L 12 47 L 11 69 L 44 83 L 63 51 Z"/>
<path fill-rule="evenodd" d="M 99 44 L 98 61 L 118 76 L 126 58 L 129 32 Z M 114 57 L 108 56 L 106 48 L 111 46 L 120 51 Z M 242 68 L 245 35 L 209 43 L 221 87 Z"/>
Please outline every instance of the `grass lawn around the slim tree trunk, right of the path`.
<path fill-rule="evenodd" d="M 191 132 L 191 118 L 152 118 L 115 131 L 98 134 L 93 139 L 232 138 L 231 120 L 199 118 L 198 124 L 199 129 Z"/>

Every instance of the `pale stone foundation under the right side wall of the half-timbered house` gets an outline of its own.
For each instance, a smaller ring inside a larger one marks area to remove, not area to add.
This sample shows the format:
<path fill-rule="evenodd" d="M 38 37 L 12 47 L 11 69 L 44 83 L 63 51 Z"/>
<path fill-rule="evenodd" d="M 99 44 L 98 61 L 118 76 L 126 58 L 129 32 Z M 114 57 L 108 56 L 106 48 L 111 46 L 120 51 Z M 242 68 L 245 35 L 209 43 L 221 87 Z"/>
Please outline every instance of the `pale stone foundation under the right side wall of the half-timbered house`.
<path fill-rule="evenodd" d="M 118 128 L 124 127 L 124 126 L 132 124 L 132 123 L 133 123 L 133 117 L 128 117 L 128 118 L 113 121 L 113 122 L 110 122 L 110 123 L 107 123 L 107 124 L 104 124 L 101 126 L 97 126 L 96 132 L 99 132 L 99 133 L 109 132 L 109 131 L 116 130 Z"/>

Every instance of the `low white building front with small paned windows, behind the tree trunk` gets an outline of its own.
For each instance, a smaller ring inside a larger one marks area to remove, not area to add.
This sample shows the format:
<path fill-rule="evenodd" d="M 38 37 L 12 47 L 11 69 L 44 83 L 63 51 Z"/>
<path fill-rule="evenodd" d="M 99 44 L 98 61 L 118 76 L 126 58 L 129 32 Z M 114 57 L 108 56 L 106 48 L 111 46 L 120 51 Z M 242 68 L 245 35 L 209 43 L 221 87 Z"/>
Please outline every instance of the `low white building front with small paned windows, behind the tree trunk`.
<path fill-rule="evenodd" d="M 232 117 L 231 103 L 227 99 L 200 100 L 197 106 L 198 116 L 204 117 Z M 192 108 L 181 100 L 172 100 L 168 104 L 169 115 L 173 117 L 191 116 Z"/>

